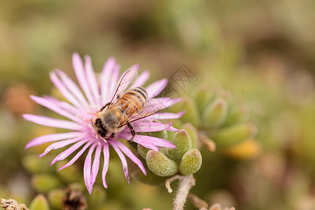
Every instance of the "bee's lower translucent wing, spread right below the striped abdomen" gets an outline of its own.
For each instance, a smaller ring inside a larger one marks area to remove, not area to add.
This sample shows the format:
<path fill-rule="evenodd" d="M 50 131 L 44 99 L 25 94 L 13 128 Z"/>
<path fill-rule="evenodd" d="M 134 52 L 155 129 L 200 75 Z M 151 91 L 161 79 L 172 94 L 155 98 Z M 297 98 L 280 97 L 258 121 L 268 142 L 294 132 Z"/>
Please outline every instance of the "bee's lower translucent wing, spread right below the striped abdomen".
<path fill-rule="evenodd" d="M 148 116 L 152 116 L 154 113 L 160 111 L 160 109 L 162 109 L 162 106 L 157 106 L 156 104 L 151 103 L 147 103 L 146 106 L 144 106 L 144 108 L 139 111 L 139 113 L 136 109 L 132 109 L 132 113 L 130 113 L 130 115 L 125 118 L 121 126 L 127 125 L 127 123 L 132 123 L 142 118 L 146 118 Z"/>

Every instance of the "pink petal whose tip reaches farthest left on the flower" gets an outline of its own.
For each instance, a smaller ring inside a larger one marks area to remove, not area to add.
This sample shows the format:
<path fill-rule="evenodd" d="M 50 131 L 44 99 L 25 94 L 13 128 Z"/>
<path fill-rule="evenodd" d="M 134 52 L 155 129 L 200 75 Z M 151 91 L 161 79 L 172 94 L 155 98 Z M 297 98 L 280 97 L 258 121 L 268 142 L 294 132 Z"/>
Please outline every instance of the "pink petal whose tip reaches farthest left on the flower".
<path fill-rule="evenodd" d="M 48 118 L 45 116 L 35 116 L 31 114 L 24 114 L 23 118 L 39 125 L 45 125 L 50 127 L 59 127 L 69 130 L 82 130 L 82 127 L 78 123 L 73 123 L 69 120 L 58 120 L 55 118 Z"/>

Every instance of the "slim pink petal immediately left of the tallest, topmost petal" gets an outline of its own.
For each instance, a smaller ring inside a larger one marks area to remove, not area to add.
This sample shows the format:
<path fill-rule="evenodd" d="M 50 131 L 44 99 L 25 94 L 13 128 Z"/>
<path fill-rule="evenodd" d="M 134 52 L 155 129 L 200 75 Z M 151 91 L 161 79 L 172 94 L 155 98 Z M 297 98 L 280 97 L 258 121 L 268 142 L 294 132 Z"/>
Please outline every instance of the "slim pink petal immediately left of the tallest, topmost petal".
<path fill-rule="evenodd" d="M 66 87 L 68 88 L 69 91 L 72 92 L 73 96 L 75 96 L 84 106 L 88 106 L 87 101 L 81 92 L 81 90 L 78 88 L 78 85 L 69 78 L 69 76 L 64 73 L 64 71 L 61 71 L 59 69 L 56 69 L 57 74 L 59 77 L 62 79 L 62 82 Z"/>

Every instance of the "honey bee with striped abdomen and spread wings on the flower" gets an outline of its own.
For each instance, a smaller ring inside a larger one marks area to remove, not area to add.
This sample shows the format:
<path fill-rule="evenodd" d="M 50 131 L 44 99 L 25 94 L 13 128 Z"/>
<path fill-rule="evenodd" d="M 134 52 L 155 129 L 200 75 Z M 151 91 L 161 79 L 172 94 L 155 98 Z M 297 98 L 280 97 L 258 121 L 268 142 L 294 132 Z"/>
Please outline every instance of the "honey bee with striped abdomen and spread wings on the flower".
<path fill-rule="evenodd" d="M 125 91 L 126 86 L 133 79 L 132 71 L 135 70 L 130 69 L 123 75 L 111 102 L 96 113 L 97 118 L 91 120 L 95 132 L 103 139 L 115 137 L 115 134 L 124 130 L 126 125 L 134 139 L 136 131 L 131 123 L 160 110 L 160 107 L 148 105 L 148 94 L 144 87 L 134 87 Z"/>

